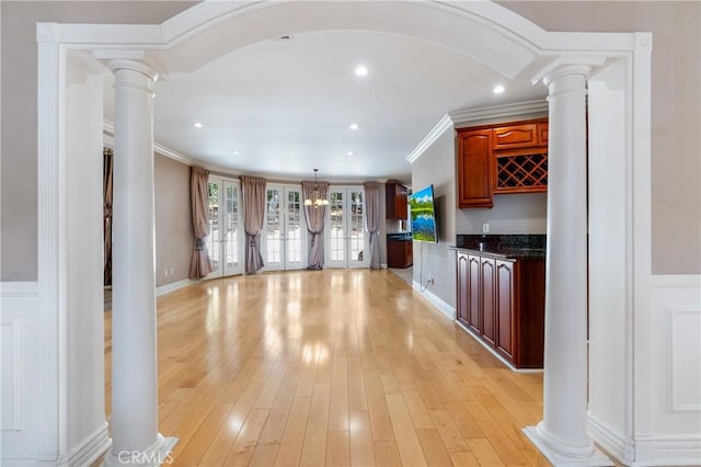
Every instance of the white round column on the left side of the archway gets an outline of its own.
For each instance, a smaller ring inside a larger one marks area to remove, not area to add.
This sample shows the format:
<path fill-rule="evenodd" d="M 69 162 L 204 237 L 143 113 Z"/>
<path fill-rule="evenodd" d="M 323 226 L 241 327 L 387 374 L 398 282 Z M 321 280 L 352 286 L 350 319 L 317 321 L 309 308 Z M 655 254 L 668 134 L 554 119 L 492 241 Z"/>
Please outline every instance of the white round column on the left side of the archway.
<path fill-rule="evenodd" d="M 110 465 L 159 465 L 175 443 L 158 432 L 153 87 L 143 64 L 115 75 Z"/>

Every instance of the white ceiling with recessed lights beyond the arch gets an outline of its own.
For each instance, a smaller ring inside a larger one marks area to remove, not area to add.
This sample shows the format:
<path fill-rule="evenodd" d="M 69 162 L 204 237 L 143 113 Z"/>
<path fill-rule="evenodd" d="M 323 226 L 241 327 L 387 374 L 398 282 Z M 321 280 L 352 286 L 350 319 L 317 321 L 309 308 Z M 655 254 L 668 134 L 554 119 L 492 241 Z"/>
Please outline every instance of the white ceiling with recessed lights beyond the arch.
<path fill-rule="evenodd" d="M 354 73 L 358 65 L 367 77 Z M 495 84 L 506 92 L 494 94 Z M 286 180 L 318 168 L 320 179 L 348 182 L 411 181 L 406 156 L 448 112 L 547 95 L 456 50 L 363 31 L 257 43 L 159 80 L 156 92 L 156 140 L 191 159 Z M 111 121 L 113 94 L 105 87 Z"/>

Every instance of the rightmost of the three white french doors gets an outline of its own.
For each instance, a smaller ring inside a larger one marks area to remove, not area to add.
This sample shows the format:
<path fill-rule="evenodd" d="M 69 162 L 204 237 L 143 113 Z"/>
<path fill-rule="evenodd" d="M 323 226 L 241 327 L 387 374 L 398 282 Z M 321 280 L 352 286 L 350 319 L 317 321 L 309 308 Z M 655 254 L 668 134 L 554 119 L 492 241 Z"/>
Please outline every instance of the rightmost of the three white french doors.
<path fill-rule="evenodd" d="M 370 258 L 365 229 L 365 190 L 331 186 L 326 216 L 326 266 L 367 267 Z"/>

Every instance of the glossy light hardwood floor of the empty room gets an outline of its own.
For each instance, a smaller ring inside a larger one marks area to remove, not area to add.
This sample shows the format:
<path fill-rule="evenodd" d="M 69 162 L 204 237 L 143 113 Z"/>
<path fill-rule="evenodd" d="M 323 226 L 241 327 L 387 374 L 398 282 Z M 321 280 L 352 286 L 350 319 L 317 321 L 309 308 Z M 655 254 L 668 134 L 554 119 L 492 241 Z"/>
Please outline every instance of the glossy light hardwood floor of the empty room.
<path fill-rule="evenodd" d="M 110 413 L 111 312 L 105 314 Z M 159 430 L 177 466 L 547 466 L 507 369 L 388 271 L 207 281 L 158 300 Z"/>

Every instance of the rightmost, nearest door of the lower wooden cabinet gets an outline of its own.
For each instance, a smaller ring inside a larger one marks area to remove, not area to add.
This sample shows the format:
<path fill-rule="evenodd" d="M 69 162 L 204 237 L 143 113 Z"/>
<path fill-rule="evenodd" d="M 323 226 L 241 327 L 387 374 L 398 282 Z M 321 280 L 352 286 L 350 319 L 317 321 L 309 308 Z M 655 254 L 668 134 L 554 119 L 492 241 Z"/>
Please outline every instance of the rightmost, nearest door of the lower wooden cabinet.
<path fill-rule="evenodd" d="M 514 262 L 496 260 L 496 349 L 514 357 Z"/>

